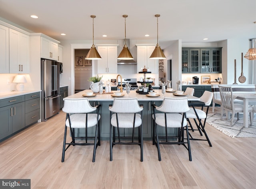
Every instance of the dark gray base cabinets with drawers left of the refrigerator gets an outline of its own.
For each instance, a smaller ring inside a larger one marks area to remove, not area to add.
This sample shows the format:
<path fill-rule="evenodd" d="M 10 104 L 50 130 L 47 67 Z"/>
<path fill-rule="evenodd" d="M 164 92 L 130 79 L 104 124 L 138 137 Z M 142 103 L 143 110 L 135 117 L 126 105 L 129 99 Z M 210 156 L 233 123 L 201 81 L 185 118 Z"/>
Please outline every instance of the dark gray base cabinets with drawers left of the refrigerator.
<path fill-rule="evenodd" d="M 0 99 L 0 141 L 40 119 L 40 92 Z"/>

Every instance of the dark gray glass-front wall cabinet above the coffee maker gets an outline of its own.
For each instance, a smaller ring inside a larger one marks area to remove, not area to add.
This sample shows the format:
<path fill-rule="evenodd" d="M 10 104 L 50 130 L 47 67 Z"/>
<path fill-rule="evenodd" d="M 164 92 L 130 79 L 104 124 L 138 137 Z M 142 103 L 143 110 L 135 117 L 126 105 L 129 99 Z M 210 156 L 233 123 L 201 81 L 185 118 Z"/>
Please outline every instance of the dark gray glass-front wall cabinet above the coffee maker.
<path fill-rule="evenodd" d="M 221 73 L 222 48 L 182 48 L 182 73 Z"/>

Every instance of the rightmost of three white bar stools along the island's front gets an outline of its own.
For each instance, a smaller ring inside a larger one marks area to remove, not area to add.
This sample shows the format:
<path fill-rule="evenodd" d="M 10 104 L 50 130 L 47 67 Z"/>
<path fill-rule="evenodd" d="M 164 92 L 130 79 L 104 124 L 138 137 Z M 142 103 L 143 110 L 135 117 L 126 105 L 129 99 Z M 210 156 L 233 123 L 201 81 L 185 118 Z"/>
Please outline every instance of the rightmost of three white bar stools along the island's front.
<path fill-rule="evenodd" d="M 160 144 L 182 144 L 188 150 L 189 161 L 192 161 L 186 120 L 186 112 L 189 111 L 188 99 L 186 97 L 164 97 L 162 105 L 157 107 L 152 104 L 152 107 L 153 145 L 157 147 L 158 160 L 161 161 Z M 164 127 L 165 136 L 158 134 L 158 126 Z M 178 136 L 168 136 L 168 128 L 177 128 Z M 186 138 L 184 137 L 184 128 L 186 129 Z M 160 141 L 160 139 L 162 140 Z"/>

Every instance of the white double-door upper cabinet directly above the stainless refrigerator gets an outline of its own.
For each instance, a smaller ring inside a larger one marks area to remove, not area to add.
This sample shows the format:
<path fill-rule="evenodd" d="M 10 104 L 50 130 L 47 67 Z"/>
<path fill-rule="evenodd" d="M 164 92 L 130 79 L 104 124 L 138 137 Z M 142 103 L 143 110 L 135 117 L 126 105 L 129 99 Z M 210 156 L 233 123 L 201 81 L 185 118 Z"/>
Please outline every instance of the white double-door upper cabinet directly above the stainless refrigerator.
<path fill-rule="evenodd" d="M 58 44 L 41 37 L 41 58 L 58 61 Z"/>

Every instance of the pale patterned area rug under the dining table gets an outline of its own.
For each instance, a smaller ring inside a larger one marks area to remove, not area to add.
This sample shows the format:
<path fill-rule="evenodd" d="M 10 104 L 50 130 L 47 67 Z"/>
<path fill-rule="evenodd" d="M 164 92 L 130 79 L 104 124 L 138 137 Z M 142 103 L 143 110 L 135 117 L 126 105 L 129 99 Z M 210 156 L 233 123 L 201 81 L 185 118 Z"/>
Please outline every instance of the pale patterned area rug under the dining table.
<path fill-rule="evenodd" d="M 232 113 L 230 113 L 230 116 Z M 231 117 L 230 117 L 231 119 Z M 222 120 L 220 119 L 220 112 L 212 113 L 208 112 L 206 122 L 214 126 L 216 129 L 222 131 L 222 133 L 234 138 L 234 137 L 256 137 L 256 115 L 252 125 L 249 120 L 249 127 L 246 128 L 243 125 L 243 114 L 239 113 L 239 120 L 235 115 L 232 125 L 230 125 L 230 119 L 226 119 L 226 115 L 223 115 Z"/>

